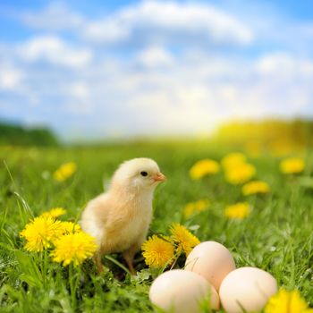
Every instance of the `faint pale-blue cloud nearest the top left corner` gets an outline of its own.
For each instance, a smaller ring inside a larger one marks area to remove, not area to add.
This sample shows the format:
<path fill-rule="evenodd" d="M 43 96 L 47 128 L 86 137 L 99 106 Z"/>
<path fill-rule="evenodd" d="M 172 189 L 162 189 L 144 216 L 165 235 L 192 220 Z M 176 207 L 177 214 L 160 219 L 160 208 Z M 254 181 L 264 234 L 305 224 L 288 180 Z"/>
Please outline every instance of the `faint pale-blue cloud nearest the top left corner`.
<path fill-rule="evenodd" d="M 21 14 L 21 21 L 27 26 L 43 30 L 68 30 L 82 26 L 84 19 L 73 13 L 62 3 L 52 3 L 41 12 Z"/>

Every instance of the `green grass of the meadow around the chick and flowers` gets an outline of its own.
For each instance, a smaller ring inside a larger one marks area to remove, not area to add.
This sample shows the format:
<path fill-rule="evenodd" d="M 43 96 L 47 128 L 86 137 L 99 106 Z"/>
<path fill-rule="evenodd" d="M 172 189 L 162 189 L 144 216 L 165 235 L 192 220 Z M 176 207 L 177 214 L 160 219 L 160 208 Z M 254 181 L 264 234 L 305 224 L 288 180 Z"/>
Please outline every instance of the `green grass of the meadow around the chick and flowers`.
<path fill-rule="evenodd" d="M 243 197 L 240 187 L 223 173 L 190 181 L 188 171 L 203 157 L 220 160 L 225 151 L 201 143 L 158 143 L 85 148 L 0 148 L 0 310 L 1 312 L 149 312 L 148 289 L 155 273 L 140 254 L 136 277 L 124 275 L 118 255 L 105 258 L 110 270 L 96 275 L 92 261 L 80 268 L 62 267 L 45 253 L 22 249 L 19 233 L 30 217 L 51 207 L 65 207 L 62 219 L 78 220 L 89 199 L 103 191 L 119 163 L 132 157 L 157 160 L 168 181 L 157 188 L 151 233 L 167 233 L 178 222 L 194 230 L 200 241 L 219 241 L 232 251 L 236 265 L 258 266 L 287 289 L 299 289 L 313 305 L 313 155 L 305 172 L 279 173 L 279 160 L 251 159 L 258 179 L 270 184 L 265 196 Z M 77 172 L 66 182 L 51 173 L 73 161 Z M 206 211 L 185 219 L 187 202 L 209 199 Z M 252 207 L 243 220 L 228 220 L 224 207 L 247 200 Z M 72 271 L 72 273 L 71 273 Z M 71 288 L 71 284 L 75 284 Z M 72 290 L 72 294 L 71 294 Z M 74 292 L 73 292 L 74 291 Z"/>

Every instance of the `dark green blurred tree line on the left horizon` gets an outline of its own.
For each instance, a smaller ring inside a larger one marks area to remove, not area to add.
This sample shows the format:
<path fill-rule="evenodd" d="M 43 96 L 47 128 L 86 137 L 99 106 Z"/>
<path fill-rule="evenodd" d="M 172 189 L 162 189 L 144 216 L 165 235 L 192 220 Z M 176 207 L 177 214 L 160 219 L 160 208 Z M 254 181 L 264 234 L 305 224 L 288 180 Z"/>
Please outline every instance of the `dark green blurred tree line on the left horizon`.
<path fill-rule="evenodd" d="M 55 134 L 45 127 L 25 128 L 11 123 L 0 123 L 0 145 L 56 146 Z"/>

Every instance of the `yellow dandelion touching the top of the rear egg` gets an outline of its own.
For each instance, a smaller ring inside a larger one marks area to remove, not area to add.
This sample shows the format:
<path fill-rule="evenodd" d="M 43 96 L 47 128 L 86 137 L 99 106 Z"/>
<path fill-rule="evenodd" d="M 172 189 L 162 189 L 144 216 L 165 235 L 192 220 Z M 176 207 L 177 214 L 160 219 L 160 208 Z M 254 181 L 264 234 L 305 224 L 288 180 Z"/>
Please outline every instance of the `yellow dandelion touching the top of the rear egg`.
<path fill-rule="evenodd" d="M 173 242 L 178 245 L 178 250 L 186 253 L 186 256 L 200 243 L 199 239 L 181 224 L 172 224 L 170 232 Z"/>

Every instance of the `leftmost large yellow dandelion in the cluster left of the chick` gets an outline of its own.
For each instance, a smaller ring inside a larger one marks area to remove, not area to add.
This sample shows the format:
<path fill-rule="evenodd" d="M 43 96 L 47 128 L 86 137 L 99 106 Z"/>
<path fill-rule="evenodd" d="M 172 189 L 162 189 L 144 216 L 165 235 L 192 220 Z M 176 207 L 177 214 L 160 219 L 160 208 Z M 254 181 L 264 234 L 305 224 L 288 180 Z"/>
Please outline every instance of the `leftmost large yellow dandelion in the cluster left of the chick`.
<path fill-rule="evenodd" d="M 24 248 L 29 251 L 42 251 L 51 247 L 51 242 L 62 234 L 61 222 L 51 216 L 35 217 L 20 233 L 26 239 Z"/>

